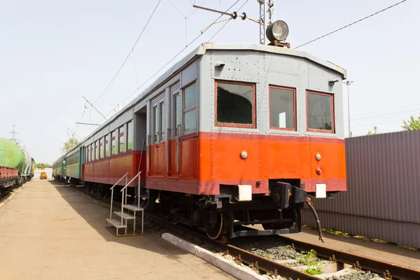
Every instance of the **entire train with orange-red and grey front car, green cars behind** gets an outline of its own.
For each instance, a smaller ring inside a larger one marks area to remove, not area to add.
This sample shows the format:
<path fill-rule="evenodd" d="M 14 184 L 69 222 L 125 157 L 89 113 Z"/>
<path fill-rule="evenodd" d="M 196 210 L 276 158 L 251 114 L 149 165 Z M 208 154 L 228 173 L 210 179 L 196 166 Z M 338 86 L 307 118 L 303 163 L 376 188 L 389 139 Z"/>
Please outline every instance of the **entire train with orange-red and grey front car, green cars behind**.
<path fill-rule="evenodd" d="M 345 78 L 299 50 L 204 43 L 57 168 L 104 196 L 141 172 L 129 200 L 140 185 L 146 211 L 212 239 L 300 232 L 309 195 L 346 190 Z M 264 230 L 239 229 L 255 224 Z"/>

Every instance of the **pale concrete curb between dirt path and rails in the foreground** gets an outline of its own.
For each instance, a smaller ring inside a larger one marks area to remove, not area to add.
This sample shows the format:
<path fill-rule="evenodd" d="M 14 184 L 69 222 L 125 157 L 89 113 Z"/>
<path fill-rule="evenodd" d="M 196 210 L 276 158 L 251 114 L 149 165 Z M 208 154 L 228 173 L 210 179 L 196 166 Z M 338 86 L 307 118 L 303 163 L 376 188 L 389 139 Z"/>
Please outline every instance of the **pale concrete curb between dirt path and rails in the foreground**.
<path fill-rule="evenodd" d="M 235 262 L 230 260 L 226 260 L 222 258 L 220 255 L 215 253 L 211 253 L 210 251 L 201 248 L 195 244 L 192 244 L 186 240 L 183 240 L 175 235 L 170 233 L 164 233 L 162 238 L 169 243 L 174 244 L 175 246 L 182 248 L 183 250 L 187 251 L 188 253 L 192 253 L 203 260 L 206 260 L 211 265 L 218 267 L 219 269 L 223 270 L 224 272 L 236 277 L 237 279 L 244 279 L 244 280 L 262 280 L 267 279 L 265 276 L 261 276 L 256 274 L 255 272 L 251 271 L 251 269 L 247 269 L 245 267 L 240 267 Z"/>

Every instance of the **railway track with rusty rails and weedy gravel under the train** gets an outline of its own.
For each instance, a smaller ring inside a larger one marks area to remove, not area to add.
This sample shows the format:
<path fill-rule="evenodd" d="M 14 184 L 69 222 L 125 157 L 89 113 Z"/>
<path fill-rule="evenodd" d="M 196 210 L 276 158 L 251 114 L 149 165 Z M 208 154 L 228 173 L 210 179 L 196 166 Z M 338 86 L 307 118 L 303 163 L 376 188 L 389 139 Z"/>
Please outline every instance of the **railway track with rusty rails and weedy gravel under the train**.
<path fill-rule="evenodd" d="M 111 200 L 92 194 L 83 188 L 74 189 L 94 197 L 95 200 L 106 204 L 111 203 Z M 115 201 L 113 204 L 116 207 L 119 205 Z M 224 243 L 211 240 L 202 235 L 201 232 L 196 232 L 181 225 L 174 225 L 165 217 L 156 214 L 145 213 L 145 218 L 145 230 L 151 230 L 155 233 L 173 233 L 225 258 L 235 260 L 238 265 L 250 267 L 258 274 L 266 274 L 271 279 L 420 279 L 420 271 L 416 269 L 366 258 L 363 255 L 338 251 L 325 246 L 296 241 L 288 237 L 257 237 L 258 242 L 255 242 L 255 237 L 252 239 L 241 238 Z M 259 248 L 263 245 L 265 248 Z M 274 255 L 275 258 L 273 258 L 270 257 L 271 253 L 267 253 L 273 250 L 285 251 L 286 254 Z M 316 269 L 320 269 L 322 273 L 315 275 Z M 324 269 L 329 270 L 329 273 L 325 273 Z"/>

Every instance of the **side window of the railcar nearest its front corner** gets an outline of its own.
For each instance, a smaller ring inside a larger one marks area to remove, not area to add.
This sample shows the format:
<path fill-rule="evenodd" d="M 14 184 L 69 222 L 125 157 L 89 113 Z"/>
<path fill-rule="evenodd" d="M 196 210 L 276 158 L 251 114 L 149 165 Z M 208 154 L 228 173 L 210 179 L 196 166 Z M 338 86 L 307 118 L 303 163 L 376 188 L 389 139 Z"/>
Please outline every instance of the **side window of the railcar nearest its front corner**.
<path fill-rule="evenodd" d="M 183 131 L 197 130 L 197 83 L 183 89 Z"/>

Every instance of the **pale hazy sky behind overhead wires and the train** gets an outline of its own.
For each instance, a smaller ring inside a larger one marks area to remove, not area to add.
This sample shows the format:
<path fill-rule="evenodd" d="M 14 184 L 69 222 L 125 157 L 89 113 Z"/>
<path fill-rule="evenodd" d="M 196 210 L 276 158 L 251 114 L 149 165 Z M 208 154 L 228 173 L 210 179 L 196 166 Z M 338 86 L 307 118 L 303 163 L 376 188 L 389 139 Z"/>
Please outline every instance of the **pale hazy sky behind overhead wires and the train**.
<path fill-rule="evenodd" d="M 240 0 L 232 10 L 245 1 Z M 195 10 L 191 4 L 194 0 L 171 2 L 184 15 Z M 276 19 L 288 23 L 287 41 L 293 48 L 396 2 L 276 0 Z M 157 0 L 1 1 L 0 137 L 9 138 L 8 132 L 15 124 L 18 138 L 31 157 L 36 162 L 50 163 L 61 154 L 62 144 L 71 134 L 66 126 L 84 138 L 94 128 L 76 125 L 85 109 L 82 96 L 92 102 L 103 92 L 156 3 Z M 207 0 L 203 6 L 225 10 L 233 3 L 234 0 Z M 258 18 L 258 9 L 257 1 L 250 0 L 238 13 Z M 400 130 L 402 120 L 419 115 L 420 97 L 415 82 L 420 62 L 416 36 L 419 12 L 420 1 L 408 0 L 300 48 L 342 66 L 349 80 L 354 80 L 350 86 L 353 135 L 366 134 L 374 125 L 379 132 Z M 187 20 L 188 43 L 216 18 L 218 14 L 203 10 L 191 15 Z M 169 66 L 209 41 L 222 25 L 211 27 Z M 258 43 L 258 36 L 255 22 L 238 18 L 211 41 Z M 162 0 L 133 55 L 95 106 L 104 114 L 110 113 L 185 45 L 186 20 L 168 0 Z M 346 87 L 344 92 L 347 113 Z M 80 121 L 97 123 L 101 119 L 96 111 L 88 109 Z M 344 119 L 347 121 L 347 116 Z M 347 123 L 345 127 L 347 131 Z"/>

